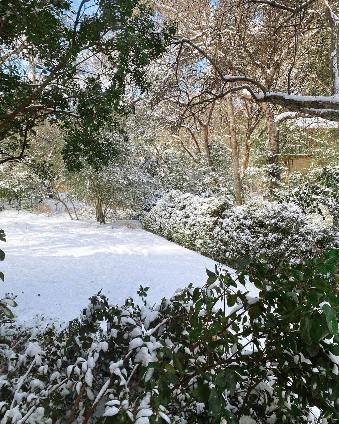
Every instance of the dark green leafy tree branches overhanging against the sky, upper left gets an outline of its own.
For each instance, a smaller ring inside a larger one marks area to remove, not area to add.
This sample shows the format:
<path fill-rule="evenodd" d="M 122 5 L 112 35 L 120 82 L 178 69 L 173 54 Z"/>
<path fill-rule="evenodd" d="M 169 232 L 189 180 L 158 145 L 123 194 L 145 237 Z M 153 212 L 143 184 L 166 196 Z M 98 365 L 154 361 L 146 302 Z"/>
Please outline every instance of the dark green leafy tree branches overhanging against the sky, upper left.
<path fill-rule="evenodd" d="M 152 8 L 139 0 L 86 3 L 73 10 L 69 1 L 0 1 L 8 59 L 0 69 L 0 160 L 25 157 L 43 123 L 66 132 L 62 154 L 70 170 L 79 170 L 81 158 L 99 165 L 114 155 L 99 131 L 118 129 L 117 116 L 131 112 L 122 103 L 126 86 L 147 88 L 145 68 L 175 27 L 158 28 Z"/>

